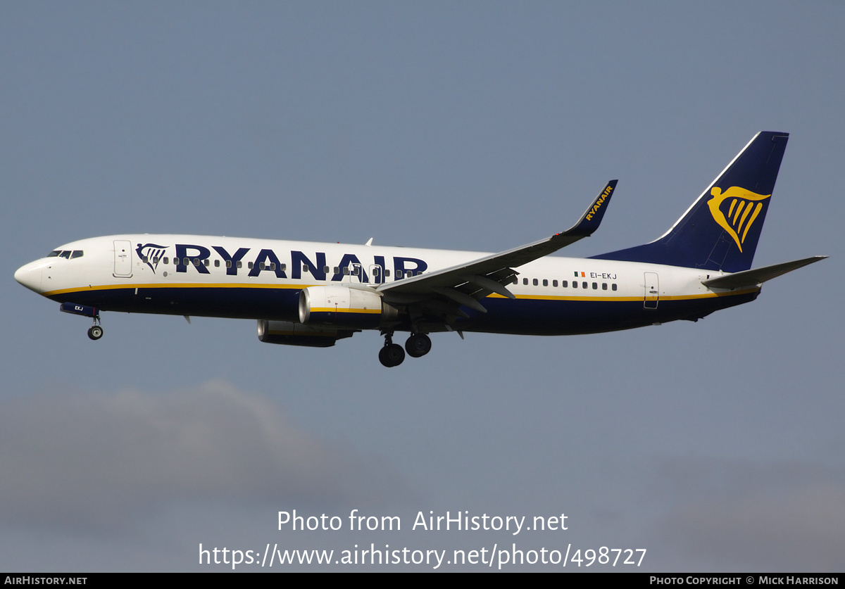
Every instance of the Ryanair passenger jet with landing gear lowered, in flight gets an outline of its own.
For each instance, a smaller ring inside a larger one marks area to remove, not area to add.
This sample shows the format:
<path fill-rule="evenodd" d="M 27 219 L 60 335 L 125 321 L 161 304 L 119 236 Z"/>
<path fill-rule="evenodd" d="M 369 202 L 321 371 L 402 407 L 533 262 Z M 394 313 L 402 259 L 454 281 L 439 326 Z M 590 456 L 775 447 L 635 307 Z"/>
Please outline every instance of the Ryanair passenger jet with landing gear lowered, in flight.
<path fill-rule="evenodd" d="M 88 316 L 101 311 L 258 321 L 264 343 L 330 347 L 364 329 L 379 360 L 419 358 L 434 332 L 573 335 L 676 321 L 755 300 L 808 257 L 751 269 L 788 141 L 759 132 L 663 235 L 587 258 L 549 257 L 592 235 L 617 181 L 569 230 L 499 253 L 259 240 L 109 235 L 68 243 L 14 278 Z M 404 349 L 395 332 L 409 332 Z"/>

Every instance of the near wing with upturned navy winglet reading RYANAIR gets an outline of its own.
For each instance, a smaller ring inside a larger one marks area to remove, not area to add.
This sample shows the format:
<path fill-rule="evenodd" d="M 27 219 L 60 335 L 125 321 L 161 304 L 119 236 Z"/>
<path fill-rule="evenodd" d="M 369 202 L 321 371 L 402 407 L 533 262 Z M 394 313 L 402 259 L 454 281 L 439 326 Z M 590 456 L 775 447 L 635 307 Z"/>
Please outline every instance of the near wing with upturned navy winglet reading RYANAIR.
<path fill-rule="evenodd" d="M 598 229 L 610 197 L 616 189 L 616 182 L 609 181 L 578 223 L 563 233 L 458 266 L 382 284 L 377 290 L 388 302 L 397 305 L 419 304 L 421 309 L 418 311 L 444 317 L 447 323 L 450 321 L 449 316 L 467 316 L 461 311 L 461 305 L 486 313 L 487 309 L 479 299 L 488 294 L 496 293 L 510 299 L 515 298 L 504 286 L 514 281 L 518 274 L 515 267 L 548 256 L 562 247 L 592 235 Z"/>

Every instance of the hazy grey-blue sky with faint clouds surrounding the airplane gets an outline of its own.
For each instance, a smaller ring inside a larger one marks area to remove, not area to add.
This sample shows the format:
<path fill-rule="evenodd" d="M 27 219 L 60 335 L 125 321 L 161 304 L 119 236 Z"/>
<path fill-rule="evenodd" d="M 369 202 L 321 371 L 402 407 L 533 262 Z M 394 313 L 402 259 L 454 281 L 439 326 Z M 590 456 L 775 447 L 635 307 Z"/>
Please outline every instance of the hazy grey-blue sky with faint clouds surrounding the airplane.
<path fill-rule="evenodd" d="M 842 570 L 843 25 L 833 2 L 3 3 L 0 567 L 515 542 Z M 501 251 L 619 178 L 586 257 L 661 235 L 760 130 L 791 135 L 755 265 L 831 259 L 695 324 L 439 334 L 385 370 L 377 334 L 296 349 L 246 321 L 106 313 L 92 343 L 12 278 L 131 232 Z M 280 532 L 293 509 L 407 529 Z M 410 530 L 464 510 L 570 525 Z"/>

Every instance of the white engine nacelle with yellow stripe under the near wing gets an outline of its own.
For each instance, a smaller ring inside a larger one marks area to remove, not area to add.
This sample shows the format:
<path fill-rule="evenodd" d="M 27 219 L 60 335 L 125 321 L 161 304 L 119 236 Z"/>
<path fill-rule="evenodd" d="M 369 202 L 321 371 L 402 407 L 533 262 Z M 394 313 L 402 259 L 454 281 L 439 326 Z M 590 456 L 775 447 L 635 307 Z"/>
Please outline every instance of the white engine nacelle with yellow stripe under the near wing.
<path fill-rule="evenodd" d="M 299 322 L 313 326 L 375 329 L 399 311 L 373 290 L 340 284 L 309 286 L 299 294 Z"/>

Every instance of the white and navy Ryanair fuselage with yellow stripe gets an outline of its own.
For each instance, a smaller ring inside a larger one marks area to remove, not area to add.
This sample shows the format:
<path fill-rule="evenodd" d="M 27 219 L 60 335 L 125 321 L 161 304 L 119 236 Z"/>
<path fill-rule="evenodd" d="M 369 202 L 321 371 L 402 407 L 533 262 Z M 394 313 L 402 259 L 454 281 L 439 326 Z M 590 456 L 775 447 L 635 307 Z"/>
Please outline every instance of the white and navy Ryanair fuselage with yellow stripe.
<path fill-rule="evenodd" d="M 299 293 L 321 284 L 375 289 L 477 260 L 427 250 L 204 235 L 111 235 L 57 248 L 21 267 L 21 284 L 103 311 L 297 322 Z M 708 289 L 715 273 L 591 258 L 543 257 L 515 268 L 515 299 L 488 294 L 466 331 L 559 335 L 695 319 L 753 300 L 754 289 Z M 401 322 L 397 329 L 411 330 Z M 428 331 L 442 331 L 435 324 Z"/>

